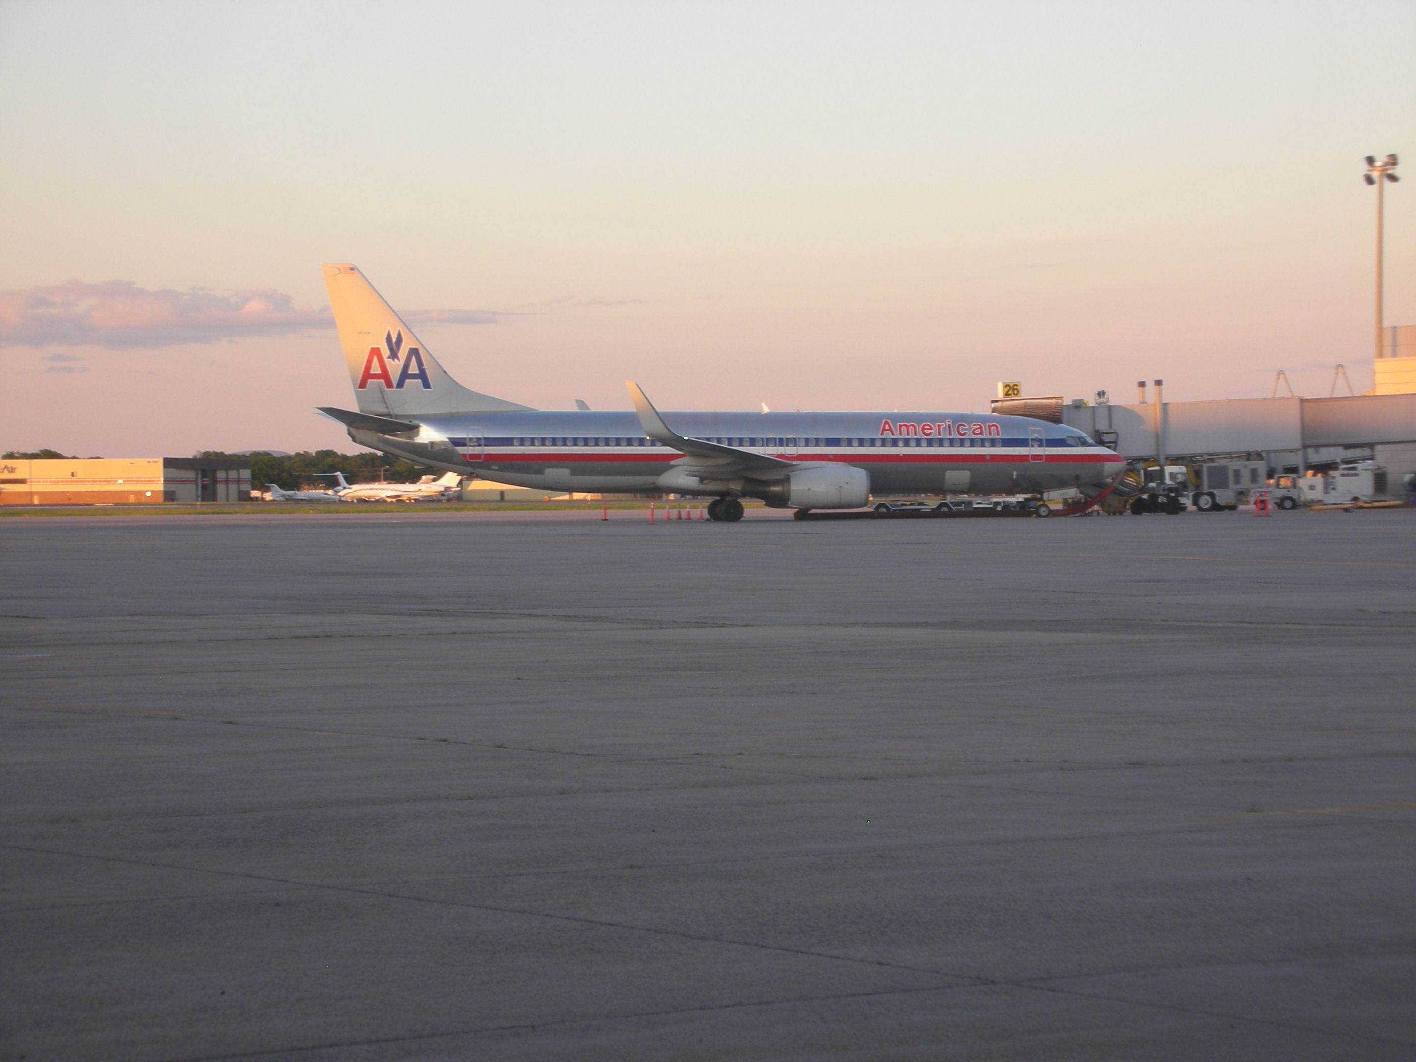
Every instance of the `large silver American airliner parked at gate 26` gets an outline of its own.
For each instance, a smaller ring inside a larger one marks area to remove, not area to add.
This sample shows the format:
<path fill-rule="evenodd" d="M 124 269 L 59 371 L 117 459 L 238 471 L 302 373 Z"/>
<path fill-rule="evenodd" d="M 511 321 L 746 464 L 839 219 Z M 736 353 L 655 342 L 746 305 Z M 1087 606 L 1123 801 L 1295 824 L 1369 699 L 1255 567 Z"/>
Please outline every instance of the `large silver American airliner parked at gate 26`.
<path fill-rule="evenodd" d="M 872 493 L 1097 498 L 1126 470 L 1075 428 L 1025 416 L 660 413 L 633 381 L 632 413 L 538 411 L 453 379 L 358 268 L 321 269 L 358 408 L 319 411 L 360 446 L 433 469 L 558 493 L 708 497 L 726 523 L 742 520 L 741 498 L 797 517 L 861 508 Z"/>

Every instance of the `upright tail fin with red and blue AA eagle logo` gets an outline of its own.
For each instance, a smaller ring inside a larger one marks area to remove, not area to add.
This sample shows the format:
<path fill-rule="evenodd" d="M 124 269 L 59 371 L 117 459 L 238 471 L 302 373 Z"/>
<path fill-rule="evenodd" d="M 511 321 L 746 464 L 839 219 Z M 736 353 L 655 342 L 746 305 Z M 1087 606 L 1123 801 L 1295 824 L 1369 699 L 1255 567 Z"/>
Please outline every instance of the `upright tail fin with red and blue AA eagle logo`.
<path fill-rule="evenodd" d="M 321 269 L 361 413 L 432 416 L 528 408 L 470 391 L 447 375 L 360 269 L 347 263 Z"/>

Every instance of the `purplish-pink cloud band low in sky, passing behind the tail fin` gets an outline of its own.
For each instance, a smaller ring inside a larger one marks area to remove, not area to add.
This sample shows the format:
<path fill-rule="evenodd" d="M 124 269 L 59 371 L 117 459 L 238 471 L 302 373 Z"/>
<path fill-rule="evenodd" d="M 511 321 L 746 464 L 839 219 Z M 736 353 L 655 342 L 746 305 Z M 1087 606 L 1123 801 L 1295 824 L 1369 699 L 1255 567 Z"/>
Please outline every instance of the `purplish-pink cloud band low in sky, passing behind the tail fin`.
<path fill-rule="evenodd" d="M 490 324 L 481 310 L 415 310 L 405 320 Z M 0 292 L 0 346 L 11 347 L 173 347 L 251 336 L 290 336 L 334 324 L 329 307 L 295 306 L 273 290 L 149 290 L 132 280 L 61 285 Z M 57 370 L 62 371 L 62 370 Z"/>

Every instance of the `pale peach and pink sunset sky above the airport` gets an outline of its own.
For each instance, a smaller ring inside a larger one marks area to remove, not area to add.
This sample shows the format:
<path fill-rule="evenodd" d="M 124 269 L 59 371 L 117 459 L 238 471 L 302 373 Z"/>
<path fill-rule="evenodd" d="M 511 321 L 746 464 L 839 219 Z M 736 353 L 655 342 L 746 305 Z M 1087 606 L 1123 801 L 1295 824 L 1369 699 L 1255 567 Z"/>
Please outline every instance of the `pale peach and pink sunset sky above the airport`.
<path fill-rule="evenodd" d="M 1413 47 L 1410 0 L 0 0 L 0 450 L 357 450 L 321 262 L 538 408 L 1362 391 Z"/>

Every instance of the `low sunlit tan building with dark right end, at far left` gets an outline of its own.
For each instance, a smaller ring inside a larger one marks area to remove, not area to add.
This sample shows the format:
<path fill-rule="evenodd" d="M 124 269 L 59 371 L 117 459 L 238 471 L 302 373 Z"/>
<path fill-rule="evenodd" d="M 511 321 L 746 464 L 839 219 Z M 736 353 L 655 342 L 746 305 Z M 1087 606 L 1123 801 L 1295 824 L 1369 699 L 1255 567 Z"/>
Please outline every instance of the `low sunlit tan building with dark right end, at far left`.
<path fill-rule="evenodd" d="M 0 506 L 249 501 L 241 457 L 0 459 Z"/>

